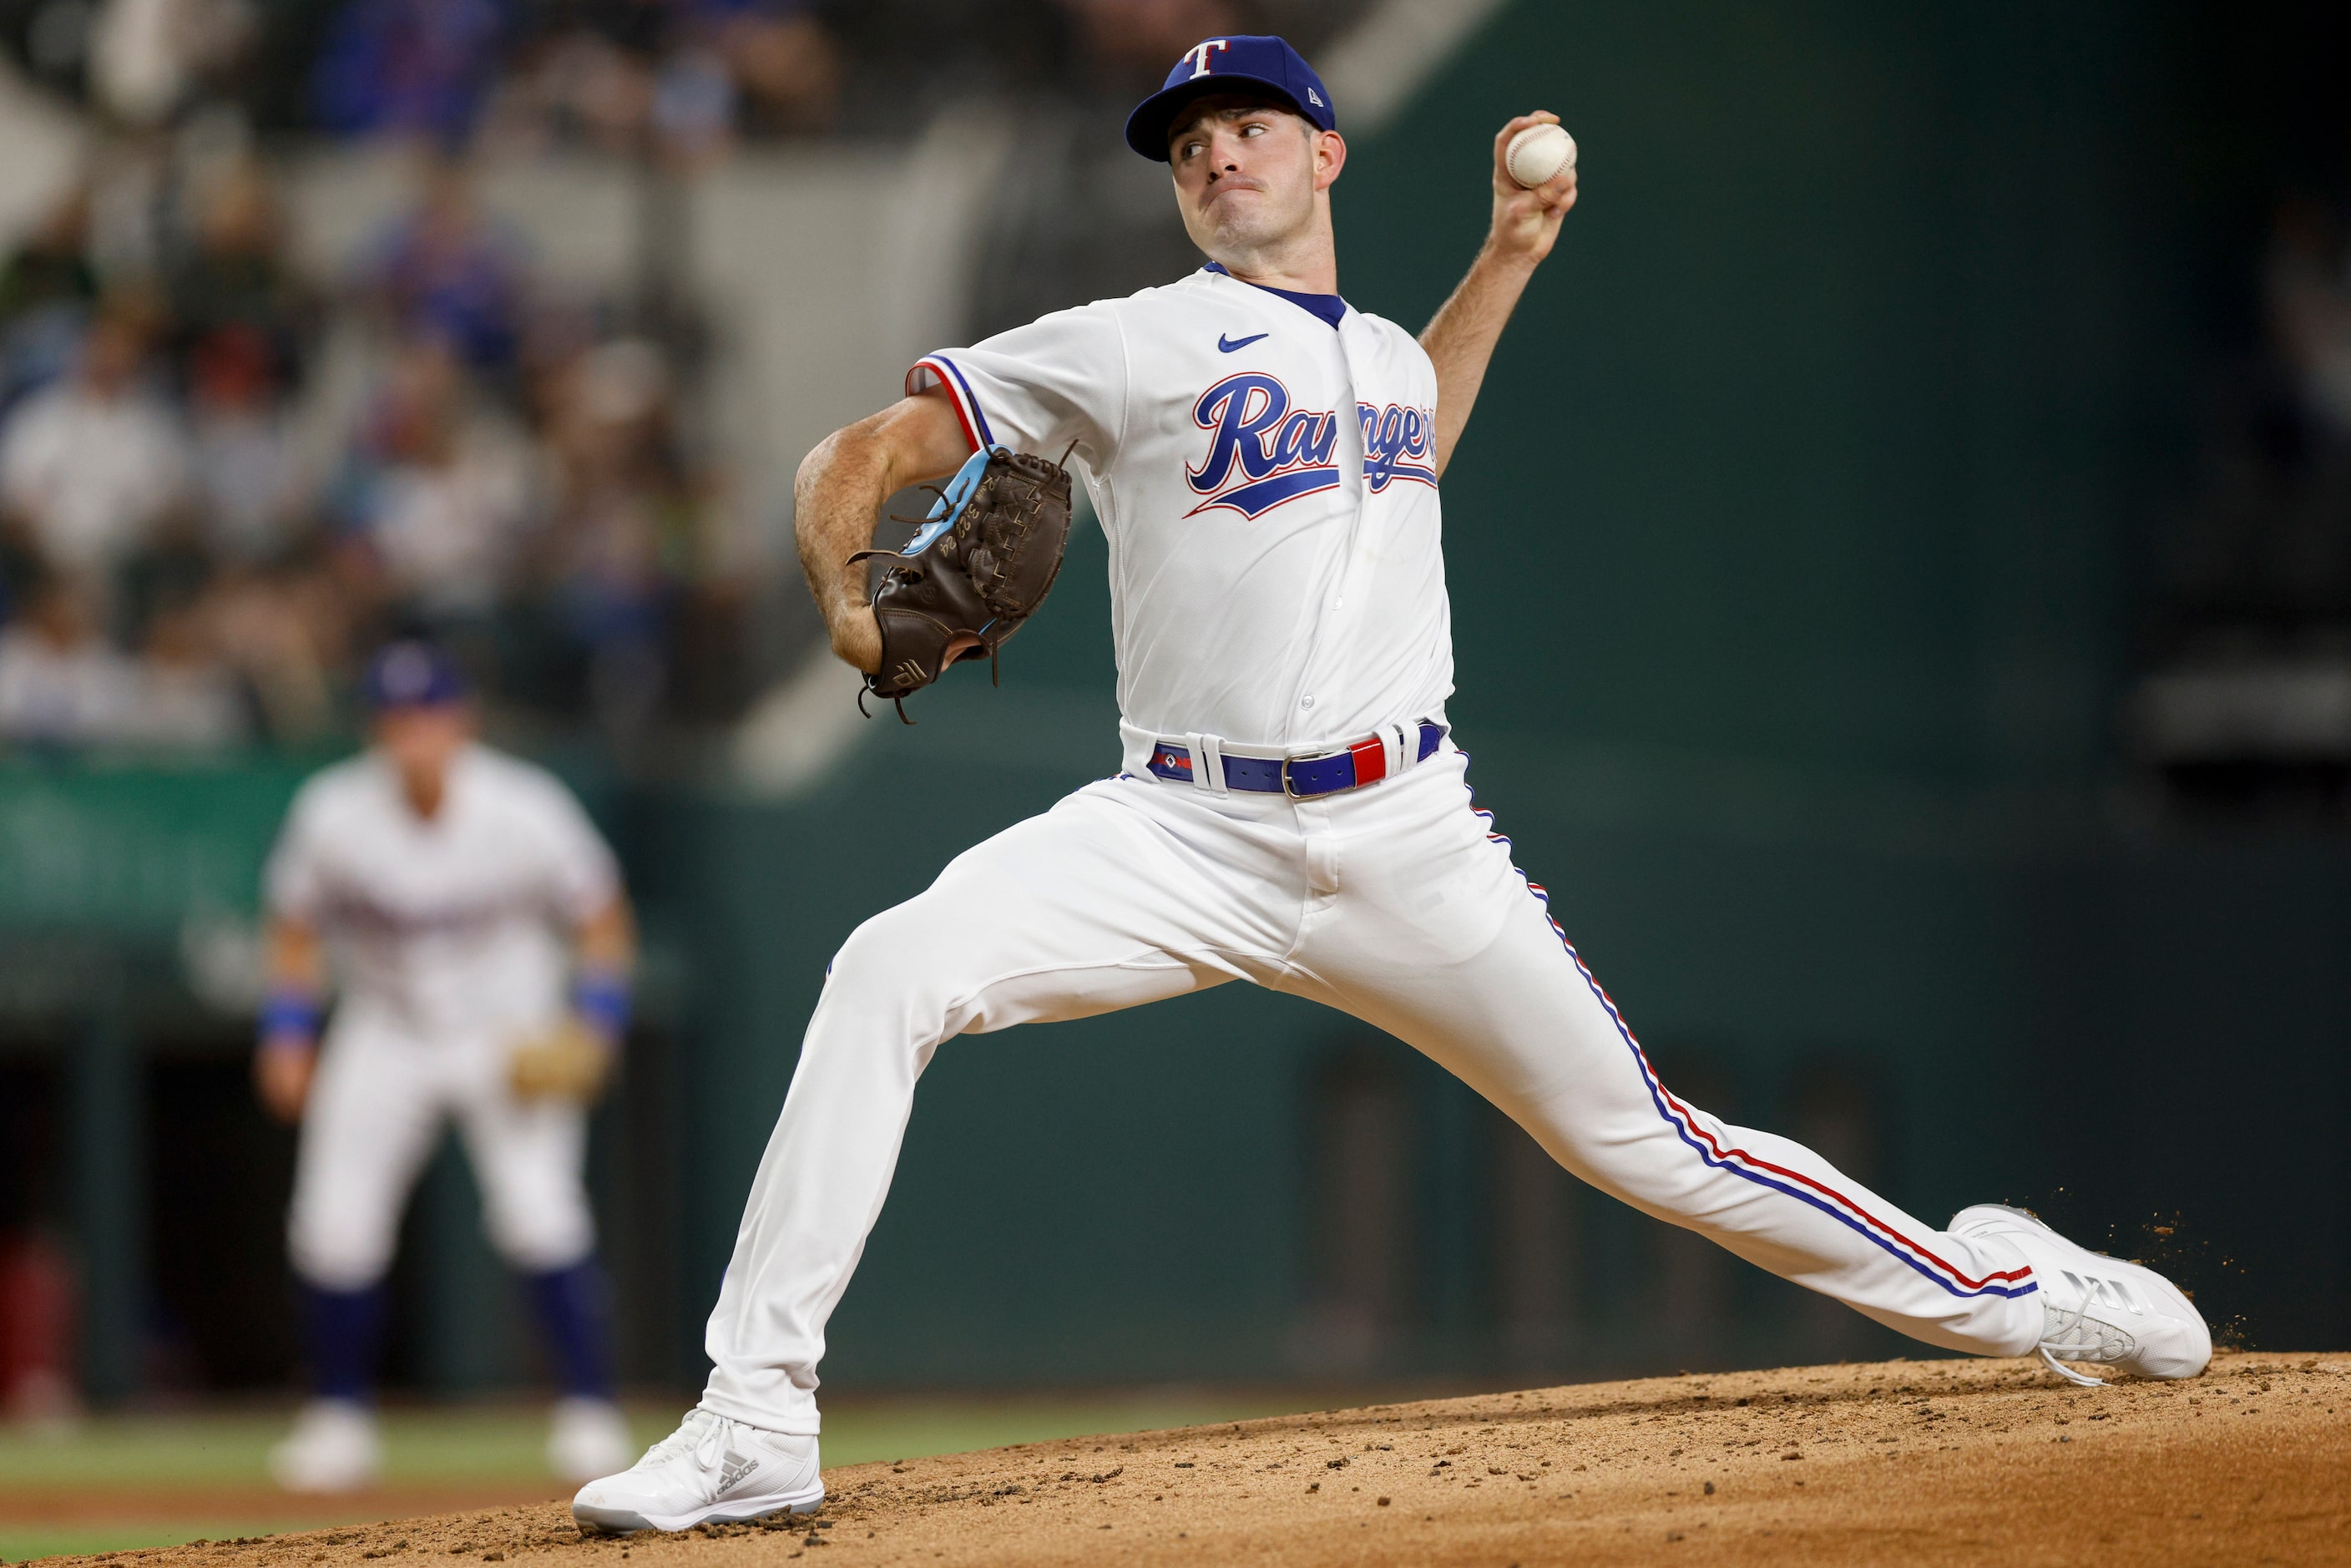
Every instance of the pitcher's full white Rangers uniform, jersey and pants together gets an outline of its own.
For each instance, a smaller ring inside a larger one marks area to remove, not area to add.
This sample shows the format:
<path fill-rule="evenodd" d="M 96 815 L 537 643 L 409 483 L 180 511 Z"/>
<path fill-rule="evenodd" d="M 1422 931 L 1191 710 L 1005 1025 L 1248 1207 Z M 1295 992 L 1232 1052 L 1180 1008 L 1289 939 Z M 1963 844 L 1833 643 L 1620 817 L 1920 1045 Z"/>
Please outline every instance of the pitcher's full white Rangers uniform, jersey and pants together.
<path fill-rule="evenodd" d="M 1077 442 L 1126 771 L 957 856 L 835 957 L 710 1319 L 703 1406 L 811 1434 L 825 1319 L 952 1034 L 1255 980 L 1418 1046 L 1559 1164 L 1947 1349 L 2027 1354 L 2022 1253 L 1923 1225 L 1650 1072 L 1444 738 L 1436 371 L 1401 327 L 1215 268 L 922 360 L 973 444 Z M 1354 748 L 1380 783 L 1223 788 Z M 1234 764 L 1239 759 L 1239 764 Z"/>

